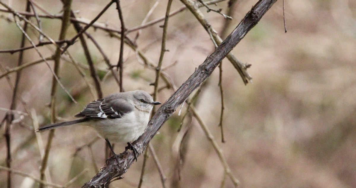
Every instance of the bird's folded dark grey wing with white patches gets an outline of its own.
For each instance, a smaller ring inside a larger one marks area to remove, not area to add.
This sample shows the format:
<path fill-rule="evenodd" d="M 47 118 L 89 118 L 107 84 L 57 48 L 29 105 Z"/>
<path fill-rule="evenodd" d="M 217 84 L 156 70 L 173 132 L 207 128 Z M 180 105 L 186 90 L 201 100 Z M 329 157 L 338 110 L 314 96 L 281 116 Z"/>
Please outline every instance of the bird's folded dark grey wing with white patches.
<path fill-rule="evenodd" d="M 87 118 L 121 118 L 131 112 L 134 106 L 123 99 L 104 98 L 91 101 L 74 117 Z"/>

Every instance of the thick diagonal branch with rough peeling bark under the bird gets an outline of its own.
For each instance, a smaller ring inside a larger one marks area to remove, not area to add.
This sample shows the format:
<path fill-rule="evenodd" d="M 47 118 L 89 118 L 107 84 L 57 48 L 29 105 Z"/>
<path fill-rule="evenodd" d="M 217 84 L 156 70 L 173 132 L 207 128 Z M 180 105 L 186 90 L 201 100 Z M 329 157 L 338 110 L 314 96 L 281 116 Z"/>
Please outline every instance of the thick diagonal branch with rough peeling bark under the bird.
<path fill-rule="evenodd" d="M 232 33 L 224 40 L 220 46 L 206 58 L 206 60 L 195 70 L 195 72 L 185 81 L 182 86 L 164 103 L 151 121 L 145 132 L 132 145 L 137 149 L 138 153 L 142 153 L 147 147 L 150 140 L 155 136 L 158 129 L 161 128 L 164 122 L 176 111 L 188 96 L 205 81 L 206 78 L 214 71 L 219 62 L 234 48 L 246 33 L 260 21 L 261 17 L 277 0 L 260 0 L 246 14 L 244 19 L 232 31 Z M 134 161 L 133 151 L 126 150 L 117 156 L 118 163 L 114 157 L 106 161 L 106 166 L 103 167 L 97 175 L 95 175 L 83 187 L 104 187 L 110 183 L 111 179 L 123 175 Z"/>

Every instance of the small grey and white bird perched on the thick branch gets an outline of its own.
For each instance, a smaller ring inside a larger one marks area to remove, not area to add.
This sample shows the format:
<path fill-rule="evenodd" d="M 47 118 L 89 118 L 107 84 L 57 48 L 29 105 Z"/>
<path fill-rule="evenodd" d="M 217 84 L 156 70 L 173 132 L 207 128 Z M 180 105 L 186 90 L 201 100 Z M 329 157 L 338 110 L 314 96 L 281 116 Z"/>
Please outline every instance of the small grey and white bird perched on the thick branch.
<path fill-rule="evenodd" d="M 115 158 L 110 142 L 127 143 L 137 161 L 137 150 L 131 143 L 145 131 L 153 106 L 159 104 L 162 103 L 153 101 L 152 96 L 143 90 L 113 93 L 87 104 L 74 116 L 80 119 L 42 126 L 36 132 L 69 125 L 93 127 L 106 140 Z"/>

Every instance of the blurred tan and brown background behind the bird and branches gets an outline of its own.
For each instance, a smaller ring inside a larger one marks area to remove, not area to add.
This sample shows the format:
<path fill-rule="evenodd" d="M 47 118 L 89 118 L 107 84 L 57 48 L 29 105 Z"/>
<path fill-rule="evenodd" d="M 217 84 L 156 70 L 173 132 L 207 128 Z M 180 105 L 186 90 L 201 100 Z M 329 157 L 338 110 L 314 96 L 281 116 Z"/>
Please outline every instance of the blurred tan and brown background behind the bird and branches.
<path fill-rule="evenodd" d="M 3 1 L 16 11 L 24 11 L 26 1 Z M 59 15 L 61 1 L 33 1 L 52 15 Z M 140 26 L 147 13 L 157 7 L 147 21 L 164 16 L 167 1 L 123 0 L 121 7 L 126 28 Z M 219 34 L 230 33 L 257 0 L 219 2 L 213 9 L 223 8 L 227 14 L 232 9 L 232 21 L 216 12 L 201 12 Z M 92 20 L 109 3 L 108 1 L 73 1 L 72 9 L 78 19 Z M 184 6 L 173 1 L 171 11 Z M 0 6 L 1 10 L 6 10 Z M 38 9 L 41 15 L 45 12 Z M 228 60 L 223 61 L 222 87 L 225 110 L 223 130 L 225 143 L 221 142 L 219 70 L 216 70 L 201 87 L 194 103 L 204 124 L 218 142 L 232 175 L 241 187 L 356 187 L 356 1 L 300 0 L 285 1 L 287 33 L 284 33 L 282 1 L 277 1 L 261 21 L 232 50 L 241 62 L 252 66 L 248 72 L 252 84 L 245 85 Z M 20 47 L 21 31 L 16 27 L 11 13 L 0 12 L 0 50 Z M 34 18 L 31 18 L 36 23 Z M 54 40 L 58 39 L 61 20 L 41 18 L 42 30 Z M 23 22 L 21 22 L 23 24 Z M 115 5 L 98 20 L 101 26 L 120 30 L 120 20 Z M 161 50 L 163 22 L 143 28 L 137 38 L 138 49 L 155 65 Z M 119 59 L 120 40 L 102 29 L 89 28 L 110 63 Z M 130 32 L 135 38 L 138 31 Z M 38 33 L 29 29 L 30 37 L 38 42 Z M 76 34 L 72 24 L 67 39 Z M 224 39 L 226 34 L 223 34 Z M 87 40 L 91 57 L 98 70 L 104 95 L 119 92 L 119 87 L 95 45 Z M 31 44 L 26 42 L 25 46 Z M 209 35 L 189 10 L 169 19 L 167 31 L 168 52 L 164 54 L 162 67 L 176 87 L 179 87 L 208 55 L 214 51 Z M 53 54 L 53 45 L 39 48 L 44 57 Z M 93 85 L 87 60 L 80 42 L 68 49 L 85 79 Z M 17 66 L 19 53 L 0 53 L 1 72 Z M 24 63 L 39 60 L 34 49 L 24 52 Z M 49 61 L 53 66 L 53 61 Z M 118 72 L 115 71 L 115 74 Z M 15 73 L 8 74 L 14 85 Z M 61 87 L 57 88 L 58 121 L 72 120 L 85 104 L 97 98 L 78 73 L 67 56 L 62 56 L 61 82 L 78 101 L 75 104 Z M 142 89 L 153 93 L 150 83 L 155 81 L 155 70 L 143 65 L 142 59 L 129 46 L 124 48 L 124 78 L 126 91 Z M 37 178 L 40 177 L 41 152 L 47 144 L 48 132 L 34 133 L 34 123 L 40 126 L 50 123 L 52 73 L 45 63 L 24 68 L 16 98 L 15 113 L 18 120 L 11 125 L 11 168 Z M 162 80 L 159 87 L 164 87 Z M 157 101 L 164 102 L 173 93 L 162 89 Z M 0 118 L 5 117 L 12 98 L 12 86 L 8 79 L 0 79 Z M 25 103 L 20 102 L 22 99 Z M 159 106 L 158 106 L 159 107 Z M 234 187 L 224 176 L 224 167 L 213 146 L 198 122 L 189 114 L 183 121 L 187 129 L 182 142 L 182 165 L 178 179 L 177 143 L 182 138 L 178 132 L 182 114 L 176 113 L 162 126 L 151 141 L 157 153 L 167 187 Z M 6 166 L 6 140 L 4 125 L 0 129 L 0 163 Z M 105 162 L 105 140 L 95 139 L 89 127 L 72 126 L 56 129 L 49 153 L 46 181 L 69 187 L 81 187 L 93 177 Z M 93 139 L 95 139 L 93 141 Z M 93 141 L 93 142 L 92 142 Z M 89 146 L 85 144 L 91 143 Z M 82 147 L 82 148 L 81 148 Z M 78 150 L 81 148 L 80 150 Z M 116 153 L 124 147 L 116 145 Z M 137 187 L 140 180 L 143 155 L 133 163 L 124 179 L 111 187 Z M 179 165 L 178 165 L 179 166 Z M 225 180 L 224 180 L 225 179 Z M 6 187 L 7 171 L 0 171 L 0 187 Z M 12 187 L 38 187 L 31 178 L 12 174 Z M 142 187 L 162 187 L 153 157 L 146 162 Z"/>

